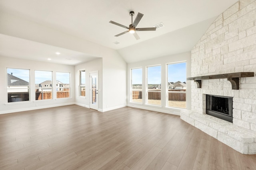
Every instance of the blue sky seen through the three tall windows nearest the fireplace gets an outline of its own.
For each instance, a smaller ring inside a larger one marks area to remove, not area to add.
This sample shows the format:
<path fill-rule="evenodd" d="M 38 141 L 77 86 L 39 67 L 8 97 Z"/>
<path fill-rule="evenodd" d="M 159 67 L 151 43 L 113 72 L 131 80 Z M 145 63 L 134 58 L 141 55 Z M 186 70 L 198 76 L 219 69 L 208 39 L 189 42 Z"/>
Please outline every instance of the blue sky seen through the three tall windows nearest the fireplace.
<path fill-rule="evenodd" d="M 186 82 L 186 63 L 168 64 L 168 82 Z M 132 84 L 142 84 L 142 68 L 132 69 Z M 148 84 L 161 84 L 161 66 L 148 67 Z"/>

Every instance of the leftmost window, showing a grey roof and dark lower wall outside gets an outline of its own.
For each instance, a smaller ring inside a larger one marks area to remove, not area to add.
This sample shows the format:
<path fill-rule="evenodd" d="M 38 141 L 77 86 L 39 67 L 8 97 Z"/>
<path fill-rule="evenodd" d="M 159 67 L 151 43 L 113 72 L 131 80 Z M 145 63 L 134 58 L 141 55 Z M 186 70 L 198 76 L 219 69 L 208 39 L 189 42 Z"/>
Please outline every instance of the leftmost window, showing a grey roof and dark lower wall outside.
<path fill-rule="evenodd" d="M 7 68 L 8 103 L 29 101 L 29 91 L 29 70 Z"/>

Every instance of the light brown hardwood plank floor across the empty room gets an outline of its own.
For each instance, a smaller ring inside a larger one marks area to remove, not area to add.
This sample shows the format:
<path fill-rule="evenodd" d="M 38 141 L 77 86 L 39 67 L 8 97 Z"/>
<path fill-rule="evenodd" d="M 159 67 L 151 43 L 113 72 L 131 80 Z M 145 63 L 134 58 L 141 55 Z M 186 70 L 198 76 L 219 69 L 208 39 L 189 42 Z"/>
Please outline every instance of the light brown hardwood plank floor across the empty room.
<path fill-rule="evenodd" d="M 255 170 L 177 115 L 76 105 L 0 115 L 0 169 Z"/>

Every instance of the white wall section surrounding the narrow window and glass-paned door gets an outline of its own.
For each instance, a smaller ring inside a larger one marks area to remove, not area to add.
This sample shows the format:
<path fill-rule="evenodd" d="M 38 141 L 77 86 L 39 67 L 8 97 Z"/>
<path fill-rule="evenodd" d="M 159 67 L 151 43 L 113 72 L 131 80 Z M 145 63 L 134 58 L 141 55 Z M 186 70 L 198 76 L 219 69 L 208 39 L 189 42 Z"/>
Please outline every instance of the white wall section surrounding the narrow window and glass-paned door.
<path fill-rule="evenodd" d="M 86 97 L 79 96 L 79 70 L 85 70 L 86 79 L 85 79 L 85 88 L 86 88 Z M 98 102 L 99 109 L 102 110 L 102 58 L 96 59 L 87 63 L 82 63 L 75 66 L 75 98 L 76 104 L 84 107 L 90 107 L 90 72 L 98 71 L 98 88 L 101 91 L 98 92 Z"/>

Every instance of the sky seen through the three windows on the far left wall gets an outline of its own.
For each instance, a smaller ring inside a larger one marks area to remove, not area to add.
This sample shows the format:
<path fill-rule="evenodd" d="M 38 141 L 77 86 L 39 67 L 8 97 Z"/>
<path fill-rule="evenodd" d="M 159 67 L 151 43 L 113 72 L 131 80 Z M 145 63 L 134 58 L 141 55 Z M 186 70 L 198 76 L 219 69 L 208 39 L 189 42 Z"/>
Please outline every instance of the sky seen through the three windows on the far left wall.
<path fill-rule="evenodd" d="M 26 82 L 30 82 L 29 81 L 30 70 L 7 68 L 7 73 L 9 73 L 9 74 L 12 73 L 13 76 L 16 76 L 22 80 L 25 80 Z M 35 83 L 36 84 L 40 84 L 46 80 L 52 80 L 52 72 L 51 71 L 35 70 Z M 64 84 L 69 84 L 70 83 L 70 73 L 56 72 L 56 80 L 59 80 L 60 82 L 62 82 Z"/>

